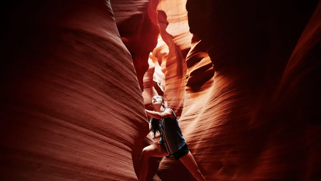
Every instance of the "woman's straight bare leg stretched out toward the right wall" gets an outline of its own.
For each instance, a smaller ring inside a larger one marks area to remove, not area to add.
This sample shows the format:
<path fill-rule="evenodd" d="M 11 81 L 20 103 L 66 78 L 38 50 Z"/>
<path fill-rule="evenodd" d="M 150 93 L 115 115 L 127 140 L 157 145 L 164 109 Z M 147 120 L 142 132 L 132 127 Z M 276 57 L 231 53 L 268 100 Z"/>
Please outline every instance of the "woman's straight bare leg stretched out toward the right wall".
<path fill-rule="evenodd" d="M 185 165 L 197 181 L 205 181 L 205 178 L 198 169 L 195 159 L 190 151 L 183 157 L 179 158 L 179 160 Z"/>

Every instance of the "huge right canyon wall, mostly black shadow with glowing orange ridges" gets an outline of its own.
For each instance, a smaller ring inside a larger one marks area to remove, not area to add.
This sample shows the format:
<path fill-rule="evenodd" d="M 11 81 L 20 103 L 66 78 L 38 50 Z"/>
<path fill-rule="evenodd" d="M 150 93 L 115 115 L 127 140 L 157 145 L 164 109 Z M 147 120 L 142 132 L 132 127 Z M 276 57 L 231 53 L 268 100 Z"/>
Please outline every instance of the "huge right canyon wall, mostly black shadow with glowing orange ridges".
<path fill-rule="evenodd" d="M 194 35 L 179 123 L 206 180 L 320 178 L 320 8 L 187 1 Z M 158 176 L 194 180 L 173 158 Z"/>

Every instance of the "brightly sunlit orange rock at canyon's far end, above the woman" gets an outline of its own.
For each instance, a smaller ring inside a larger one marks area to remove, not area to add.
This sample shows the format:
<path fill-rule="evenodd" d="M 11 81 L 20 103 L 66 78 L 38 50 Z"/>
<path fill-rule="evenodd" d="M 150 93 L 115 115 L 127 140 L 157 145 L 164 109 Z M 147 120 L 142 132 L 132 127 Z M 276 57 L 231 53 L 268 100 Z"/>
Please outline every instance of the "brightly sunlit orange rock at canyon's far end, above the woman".
<path fill-rule="evenodd" d="M 186 55 L 191 47 L 192 34 L 189 32 L 186 0 L 161 0 L 157 6 L 160 37 L 152 52 L 153 57 L 158 59 L 162 72 L 165 74 L 164 94 L 169 107 L 179 117 L 183 110 L 185 84 L 186 84 Z M 155 93 L 155 92 L 154 92 Z M 143 93 L 146 94 L 146 93 Z M 146 94 L 147 95 L 147 94 Z M 149 98 L 156 94 L 144 96 Z"/>

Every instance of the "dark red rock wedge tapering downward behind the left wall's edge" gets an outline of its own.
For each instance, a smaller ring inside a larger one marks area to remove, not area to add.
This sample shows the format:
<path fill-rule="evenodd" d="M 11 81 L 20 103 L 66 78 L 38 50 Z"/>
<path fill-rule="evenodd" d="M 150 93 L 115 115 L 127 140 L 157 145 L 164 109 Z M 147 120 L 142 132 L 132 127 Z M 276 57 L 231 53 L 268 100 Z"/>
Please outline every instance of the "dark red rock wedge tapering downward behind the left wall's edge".
<path fill-rule="evenodd" d="M 111 1 L 120 37 L 132 55 L 142 91 L 143 77 L 149 68 L 149 54 L 156 47 L 160 33 L 156 11 L 158 2 L 159 0 Z"/>

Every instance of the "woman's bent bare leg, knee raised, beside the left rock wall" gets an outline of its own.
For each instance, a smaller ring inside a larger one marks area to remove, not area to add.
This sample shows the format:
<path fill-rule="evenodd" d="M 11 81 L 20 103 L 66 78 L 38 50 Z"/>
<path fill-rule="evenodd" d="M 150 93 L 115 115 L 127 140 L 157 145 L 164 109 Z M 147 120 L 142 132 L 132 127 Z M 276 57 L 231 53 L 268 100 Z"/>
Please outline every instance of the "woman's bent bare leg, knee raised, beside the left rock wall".
<path fill-rule="evenodd" d="M 148 172 L 148 159 L 149 157 L 165 157 L 168 153 L 163 146 L 158 143 L 145 147 L 142 151 L 142 156 L 139 166 L 139 181 L 145 181 Z"/>

